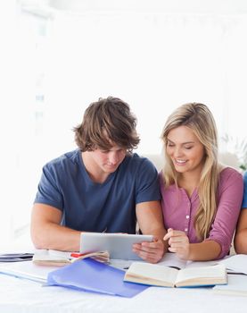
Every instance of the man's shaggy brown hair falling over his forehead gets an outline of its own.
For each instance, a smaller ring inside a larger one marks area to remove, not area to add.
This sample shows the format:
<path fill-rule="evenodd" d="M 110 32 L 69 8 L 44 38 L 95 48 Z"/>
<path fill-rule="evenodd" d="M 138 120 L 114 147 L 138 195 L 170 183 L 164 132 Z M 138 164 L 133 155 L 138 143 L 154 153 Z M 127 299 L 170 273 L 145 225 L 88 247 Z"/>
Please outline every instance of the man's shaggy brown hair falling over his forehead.
<path fill-rule="evenodd" d="M 140 139 L 136 133 L 136 117 L 128 104 L 118 97 L 99 98 L 86 108 L 83 121 L 74 128 L 78 148 L 111 149 L 113 144 L 131 152 Z"/>

